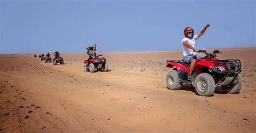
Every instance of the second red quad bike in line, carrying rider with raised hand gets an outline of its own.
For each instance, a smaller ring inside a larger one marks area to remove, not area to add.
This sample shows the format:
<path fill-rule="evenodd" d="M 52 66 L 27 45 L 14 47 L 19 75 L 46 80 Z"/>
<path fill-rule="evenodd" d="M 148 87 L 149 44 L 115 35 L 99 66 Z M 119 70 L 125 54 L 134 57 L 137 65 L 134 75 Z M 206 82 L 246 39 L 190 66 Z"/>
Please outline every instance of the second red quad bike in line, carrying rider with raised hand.
<path fill-rule="evenodd" d="M 109 65 L 106 63 L 106 58 L 99 57 L 98 55 L 95 58 L 90 59 L 89 61 L 84 61 L 84 71 L 95 72 L 95 69 L 99 71 L 109 70 Z"/>

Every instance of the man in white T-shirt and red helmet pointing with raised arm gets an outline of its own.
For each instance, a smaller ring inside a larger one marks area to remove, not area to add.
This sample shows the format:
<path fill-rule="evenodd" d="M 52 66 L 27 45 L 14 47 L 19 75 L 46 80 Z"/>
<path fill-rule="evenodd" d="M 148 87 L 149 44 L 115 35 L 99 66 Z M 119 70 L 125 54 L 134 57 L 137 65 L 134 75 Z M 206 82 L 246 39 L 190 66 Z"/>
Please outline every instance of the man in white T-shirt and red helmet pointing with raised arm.
<path fill-rule="evenodd" d="M 210 24 L 207 24 L 202 31 L 196 35 L 194 35 L 194 30 L 191 27 L 186 27 L 184 29 L 184 35 L 185 38 L 183 38 L 183 61 L 186 63 L 190 63 L 190 74 L 188 76 L 188 79 L 191 79 L 192 70 L 194 67 L 194 64 L 197 63 L 197 61 L 202 58 L 200 56 L 197 56 L 198 49 L 194 48 L 194 44 L 196 43 L 196 40 L 205 33 L 206 29 L 210 27 Z"/>

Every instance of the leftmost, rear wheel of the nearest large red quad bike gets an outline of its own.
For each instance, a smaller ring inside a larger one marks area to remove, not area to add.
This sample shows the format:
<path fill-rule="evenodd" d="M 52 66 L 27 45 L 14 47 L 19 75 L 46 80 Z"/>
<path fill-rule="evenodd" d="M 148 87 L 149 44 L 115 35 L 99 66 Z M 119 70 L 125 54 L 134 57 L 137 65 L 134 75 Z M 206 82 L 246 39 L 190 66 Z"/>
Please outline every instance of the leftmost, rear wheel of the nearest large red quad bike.
<path fill-rule="evenodd" d="M 182 83 L 179 83 L 178 72 L 175 70 L 169 71 L 166 76 L 166 85 L 170 90 L 180 90 Z"/>

